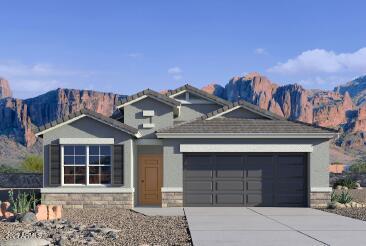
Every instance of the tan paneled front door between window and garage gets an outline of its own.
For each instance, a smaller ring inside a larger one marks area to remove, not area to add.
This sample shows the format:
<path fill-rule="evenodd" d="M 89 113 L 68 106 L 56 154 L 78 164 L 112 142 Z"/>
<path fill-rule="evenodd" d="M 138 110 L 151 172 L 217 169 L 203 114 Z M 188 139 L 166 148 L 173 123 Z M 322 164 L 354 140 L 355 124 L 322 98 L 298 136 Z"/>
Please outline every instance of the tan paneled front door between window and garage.
<path fill-rule="evenodd" d="M 161 205 L 163 158 L 161 155 L 139 156 L 139 197 L 141 205 Z"/>

